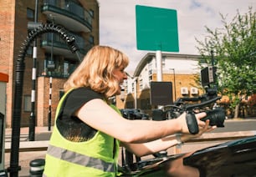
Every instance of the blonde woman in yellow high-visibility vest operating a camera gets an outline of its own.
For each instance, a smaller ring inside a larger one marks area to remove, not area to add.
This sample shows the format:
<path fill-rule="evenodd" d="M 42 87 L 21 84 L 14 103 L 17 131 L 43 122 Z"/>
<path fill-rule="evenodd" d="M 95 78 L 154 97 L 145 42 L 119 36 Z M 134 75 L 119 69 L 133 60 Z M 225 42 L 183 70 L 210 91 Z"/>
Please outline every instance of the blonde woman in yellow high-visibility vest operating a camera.
<path fill-rule="evenodd" d="M 64 84 L 44 176 L 116 176 L 120 144 L 137 156 L 154 154 L 213 128 L 197 114 L 198 134 L 189 134 L 185 114 L 166 121 L 128 120 L 108 103 L 120 94 L 129 63 L 124 53 L 95 46 Z M 182 134 L 181 137 L 173 134 Z M 198 169 L 172 163 L 168 173 L 199 176 Z"/>

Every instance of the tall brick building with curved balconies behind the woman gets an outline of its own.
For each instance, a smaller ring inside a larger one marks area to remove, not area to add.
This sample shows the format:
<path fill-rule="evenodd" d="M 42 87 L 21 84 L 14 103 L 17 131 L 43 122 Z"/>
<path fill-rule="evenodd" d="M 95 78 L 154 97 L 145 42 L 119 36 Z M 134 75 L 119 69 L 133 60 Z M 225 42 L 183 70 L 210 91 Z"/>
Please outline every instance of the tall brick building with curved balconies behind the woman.
<path fill-rule="evenodd" d="M 36 8 L 38 4 L 38 8 Z M 6 124 L 12 126 L 15 64 L 27 38 L 28 23 L 52 23 L 74 36 L 81 57 L 99 44 L 99 4 L 96 0 L 2 0 L 0 7 L 0 73 L 8 74 Z M 58 33 L 43 33 L 37 40 L 34 113 L 36 126 L 47 126 L 49 117 L 49 80 L 52 78 L 52 117 L 62 94 L 64 81 L 79 64 Z M 21 126 L 28 126 L 32 112 L 33 45 L 24 58 L 25 70 Z M 54 119 L 51 120 L 54 124 Z"/>

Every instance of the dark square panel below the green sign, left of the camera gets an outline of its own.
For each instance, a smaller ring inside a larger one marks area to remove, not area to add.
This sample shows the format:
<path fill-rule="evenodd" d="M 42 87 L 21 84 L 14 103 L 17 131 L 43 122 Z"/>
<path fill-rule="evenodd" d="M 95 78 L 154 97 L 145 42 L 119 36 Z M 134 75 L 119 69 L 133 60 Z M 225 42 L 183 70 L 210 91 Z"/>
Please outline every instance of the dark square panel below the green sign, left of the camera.
<path fill-rule="evenodd" d="M 173 104 L 172 82 L 151 82 L 151 104 Z"/>

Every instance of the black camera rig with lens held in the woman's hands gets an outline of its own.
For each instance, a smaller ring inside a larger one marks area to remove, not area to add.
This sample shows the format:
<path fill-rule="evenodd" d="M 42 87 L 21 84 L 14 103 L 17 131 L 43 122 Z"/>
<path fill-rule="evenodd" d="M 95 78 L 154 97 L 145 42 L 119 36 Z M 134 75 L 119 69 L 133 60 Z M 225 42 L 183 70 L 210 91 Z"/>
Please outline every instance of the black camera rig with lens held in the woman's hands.
<path fill-rule="evenodd" d="M 152 110 L 153 120 L 177 119 L 184 112 L 186 113 L 187 127 L 191 134 L 197 134 L 199 129 L 197 126 L 197 119 L 195 114 L 205 112 L 207 114 L 203 121 L 210 120 L 210 125 L 217 127 L 224 127 L 225 111 L 216 106 L 216 103 L 221 96 L 218 96 L 218 89 L 216 83 L 217 68 L 210 66 L 202 68 L 201 81 L 202 86 L 206 90 L 206 94 L 198 97 L 182 97 L 177 99 L 173 104 L 165 105 L 162 109 Z"/>

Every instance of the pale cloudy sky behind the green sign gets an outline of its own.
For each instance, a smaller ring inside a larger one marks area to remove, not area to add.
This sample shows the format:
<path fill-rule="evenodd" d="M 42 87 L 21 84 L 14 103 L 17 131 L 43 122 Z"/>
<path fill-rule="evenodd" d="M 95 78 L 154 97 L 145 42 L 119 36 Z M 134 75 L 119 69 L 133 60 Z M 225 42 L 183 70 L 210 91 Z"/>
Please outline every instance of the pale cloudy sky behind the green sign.
<path fill-rule="evenodd" d="M 240 14 L 255 11 L 255 0 L 98 0 L 100 6 L 100 45 L 108 45 L 124 52 L 130 63 L 126 68 L 133 74 L 146 53 L 156 51 L 138 50 L 136 44 L 136 5 L 166 8 L 177 11 L 179 52 L 198 54 L 196 39 L 203 40 L 206 28 L 223 28 L 220 14 L 228 22 Z M 162 52 L 166 53 L 166 52 Z"/>

